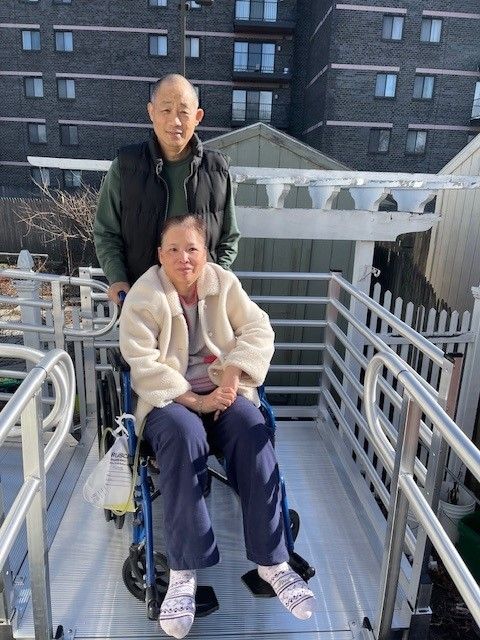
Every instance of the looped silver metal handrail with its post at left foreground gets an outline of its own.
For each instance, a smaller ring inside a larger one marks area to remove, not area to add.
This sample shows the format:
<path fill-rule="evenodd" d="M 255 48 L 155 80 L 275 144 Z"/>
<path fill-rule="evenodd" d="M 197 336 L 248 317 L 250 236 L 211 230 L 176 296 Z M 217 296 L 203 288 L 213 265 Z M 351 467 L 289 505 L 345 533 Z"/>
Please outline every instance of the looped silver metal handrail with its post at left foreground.
<path fill-rule="evenodd" d="M 60 349 L 44 354 L 21 345 L 0 345 L 0 356 L 24 358 L 35 363 L 0 413 L 0 446 L 21 417 L 24 472 L 23 485 L 0 527 L 0 571 L 26 520 L 35 638 L 51 640 L 45 474 L 69 432 L 75 404 L 75 372 L 71 358 Z M 59 401 L 48 416 L 56 429 L 44 448 L 39 394 L 47 378 L 52 381 Z"/>

